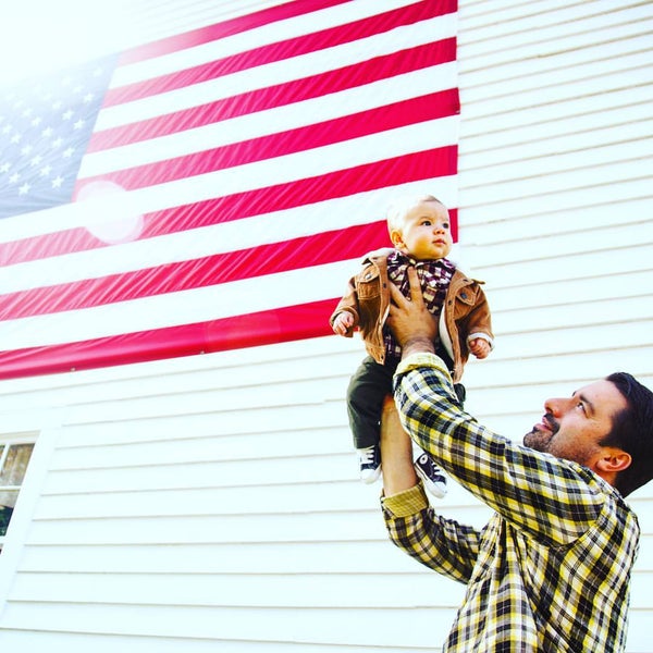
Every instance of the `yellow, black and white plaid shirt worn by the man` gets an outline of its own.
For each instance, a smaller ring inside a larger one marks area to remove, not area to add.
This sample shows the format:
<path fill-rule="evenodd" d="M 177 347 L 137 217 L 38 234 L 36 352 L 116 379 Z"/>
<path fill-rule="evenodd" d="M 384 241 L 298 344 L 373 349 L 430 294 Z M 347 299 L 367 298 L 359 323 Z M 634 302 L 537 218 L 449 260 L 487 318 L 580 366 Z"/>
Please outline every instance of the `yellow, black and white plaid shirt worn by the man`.
<path fill-rule="evenodd" d="M 494 510 L 479 531 L 438 516 L 421 485 L 382 500 L 392 541 L 467 584 L 444 651 L 624 651 L 640 529 L 621 495 L 479 424 L 434 355 L 402 361 L 395 399 L 414 440 Z"/>

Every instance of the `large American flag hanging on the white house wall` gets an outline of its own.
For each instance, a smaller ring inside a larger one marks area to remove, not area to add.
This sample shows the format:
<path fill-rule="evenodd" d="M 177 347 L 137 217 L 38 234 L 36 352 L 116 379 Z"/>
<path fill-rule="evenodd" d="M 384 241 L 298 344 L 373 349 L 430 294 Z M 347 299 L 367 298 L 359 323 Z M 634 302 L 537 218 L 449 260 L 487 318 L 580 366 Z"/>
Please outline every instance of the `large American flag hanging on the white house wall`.
<path fill-rule="evenodd" d="M 386 206 L 456 218 L 455 0 L 295 0 L 3 88 L 0 378 L 331 333 Z"/>

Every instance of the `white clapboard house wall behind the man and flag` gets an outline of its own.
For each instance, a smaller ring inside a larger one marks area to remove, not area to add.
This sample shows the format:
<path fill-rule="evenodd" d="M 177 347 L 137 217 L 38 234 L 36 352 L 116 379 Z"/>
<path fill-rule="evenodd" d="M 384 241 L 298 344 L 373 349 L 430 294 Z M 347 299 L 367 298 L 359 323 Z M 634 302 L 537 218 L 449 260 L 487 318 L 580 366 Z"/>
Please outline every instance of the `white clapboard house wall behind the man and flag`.
<path fill-rule="evenodd" d="M 209 4 L 161 7 L 190 28 Z M 650 2 L 460 0 L 461 264 L 497 336 L 467 407 L 516 439 L 617 369 L 653 387 L 652 24 Z M 355 478 L 361 352 L 333 336 L 0 383 L 0 435 L 39 432 L 0 556 L 3 648 L 436 649 L 463 588 L 389 543 L 380 486 Z M 644 653 L 653 486 L 631 500 Z M 438 505 L 488 515 L 455 485 Z"/>

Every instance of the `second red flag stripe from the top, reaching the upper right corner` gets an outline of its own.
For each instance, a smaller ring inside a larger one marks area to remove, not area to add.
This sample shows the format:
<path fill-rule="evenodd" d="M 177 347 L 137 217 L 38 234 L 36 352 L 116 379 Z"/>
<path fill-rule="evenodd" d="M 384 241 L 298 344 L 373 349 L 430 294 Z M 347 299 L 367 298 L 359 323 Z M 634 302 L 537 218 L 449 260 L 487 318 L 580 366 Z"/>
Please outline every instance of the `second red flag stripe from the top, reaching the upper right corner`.
<path fill-rule="evenodd" d="M 301 4 L 301 3 L 299 3 Z M 309 52 L 317 52 L 326 48 L 352 42 L 361 38 L 368 38 L 375 34 L 382 34 L 389 29 L 395 29 L 403 25 L 410 25 L 436 15 L 455 11 L 456 2 L 417 2 L 375 16 L 362 19 L 346 25 L 330 27 L 305 36 L 288 38 L 283 41 L 254 48 L 246 52 L 225 57 L 183 71 L 161 75 L 147 82 L 135 82 L 118 88 L 112 88 L 104 96 L 104 107 L 113 107 L 125 102 L 132 102 L 152 95 L 169 93 L 194 84 L 201 84 L 231 75 L 250 67 L 283 61 L 293 57 L 300 57 Z M 222 38 L 218 35 L 217 38 Z M 122 62 L 121 62 L 122 63 Z"/>

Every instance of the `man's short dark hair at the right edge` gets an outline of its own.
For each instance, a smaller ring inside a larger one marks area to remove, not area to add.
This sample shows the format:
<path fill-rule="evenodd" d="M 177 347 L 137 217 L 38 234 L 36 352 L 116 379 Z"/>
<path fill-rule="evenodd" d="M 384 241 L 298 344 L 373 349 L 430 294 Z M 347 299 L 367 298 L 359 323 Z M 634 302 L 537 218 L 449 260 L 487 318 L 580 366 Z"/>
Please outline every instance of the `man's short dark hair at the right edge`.
<path fill-rule="evenodd" d="M 624 396 L 627 407 L 613 417 L 612 431 L 601 442 L 630 454 L 630 466 L 620 471 L 615 486 L 624 495 L 653 479 L 653 392 L 627 372 L 605 378 Z"/>

